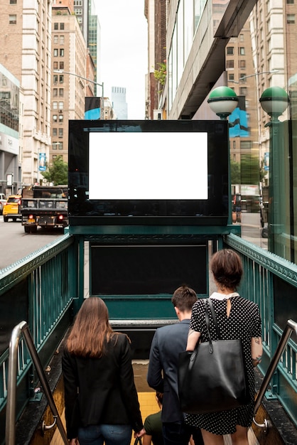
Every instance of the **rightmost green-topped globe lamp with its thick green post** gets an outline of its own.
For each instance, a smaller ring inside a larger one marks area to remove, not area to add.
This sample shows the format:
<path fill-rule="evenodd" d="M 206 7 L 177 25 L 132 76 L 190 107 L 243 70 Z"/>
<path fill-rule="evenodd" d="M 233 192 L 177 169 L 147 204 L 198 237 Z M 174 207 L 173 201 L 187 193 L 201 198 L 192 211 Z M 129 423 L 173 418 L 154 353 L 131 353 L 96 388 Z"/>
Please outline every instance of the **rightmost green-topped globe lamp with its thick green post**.
<path fill-rule="evenodd" d="M 288 121 L 280 122 L 289 103 L 288 94 L 281 87 L 269 87 L 262 93 L 260 104 L 269 114 L 269 208 L 268 208 L 268 250 L 286 258 L 284 237 L 286 223 L 286 167 L 288 159 L 286 138 Z"/>

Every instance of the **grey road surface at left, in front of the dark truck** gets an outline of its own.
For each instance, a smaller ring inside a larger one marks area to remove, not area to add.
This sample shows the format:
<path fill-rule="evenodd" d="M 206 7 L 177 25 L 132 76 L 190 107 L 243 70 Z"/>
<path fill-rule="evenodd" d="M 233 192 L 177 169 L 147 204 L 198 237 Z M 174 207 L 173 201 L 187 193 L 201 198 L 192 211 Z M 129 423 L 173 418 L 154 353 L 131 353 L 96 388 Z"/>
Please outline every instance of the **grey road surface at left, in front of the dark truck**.
<path fill-rule="evenodd" d="M 43 230 L 39 228 L 36 234 L 25 233 L 21 221 L 9 220 L 4 223 L 0 216 L 0 269 L 17 262 L 26 255 L 63 235 L 63 229 Z"/>

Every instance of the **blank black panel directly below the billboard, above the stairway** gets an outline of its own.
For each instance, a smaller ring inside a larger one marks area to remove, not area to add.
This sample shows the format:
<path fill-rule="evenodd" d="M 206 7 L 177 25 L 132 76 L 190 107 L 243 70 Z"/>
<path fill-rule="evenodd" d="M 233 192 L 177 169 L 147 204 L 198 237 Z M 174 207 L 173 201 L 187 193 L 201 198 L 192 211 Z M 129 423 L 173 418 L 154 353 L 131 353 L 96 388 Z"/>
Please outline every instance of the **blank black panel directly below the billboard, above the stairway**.
<path fill-rule="evenodd" d="M 90 247 L 91 294 L 172 295 L 182 284 L 207 293 L 207 243 Z"/>

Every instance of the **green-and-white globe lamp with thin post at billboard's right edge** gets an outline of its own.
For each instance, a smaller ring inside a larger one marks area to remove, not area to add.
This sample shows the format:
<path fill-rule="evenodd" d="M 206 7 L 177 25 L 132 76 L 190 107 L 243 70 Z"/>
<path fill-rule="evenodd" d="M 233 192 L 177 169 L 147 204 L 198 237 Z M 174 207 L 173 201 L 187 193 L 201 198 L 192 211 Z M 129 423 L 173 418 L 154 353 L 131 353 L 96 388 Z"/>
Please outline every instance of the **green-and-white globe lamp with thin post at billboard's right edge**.
<path fill-rule="evenodd" d="M 227 120 L 229 114 L 237 107 L 238 97 L 229 87 L 217 87 L 207 99 L 210 108 L 222 120 Z M 229 131 L 228 137 L 228 225 L 232 224 L 232 203 L 231 203 L 231 172 L 230 172 L 230 145 Z"/>

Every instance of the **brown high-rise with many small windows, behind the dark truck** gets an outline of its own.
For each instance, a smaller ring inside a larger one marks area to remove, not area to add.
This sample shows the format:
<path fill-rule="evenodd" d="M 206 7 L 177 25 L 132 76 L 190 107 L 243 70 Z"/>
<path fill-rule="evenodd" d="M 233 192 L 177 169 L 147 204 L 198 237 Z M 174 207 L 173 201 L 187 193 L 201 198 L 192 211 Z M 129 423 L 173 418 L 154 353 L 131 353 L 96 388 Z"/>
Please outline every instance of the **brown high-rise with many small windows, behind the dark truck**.
<path fill-rule="evenodd" d="M 53 5 L 50 163 L 56 156 L 68 161 L 68 120 L 84 119 L 85 96 L 92 95 L 94 90 L 92 82 L 87 82 L 87 60 L 90 62 L 90 58 L 85 39 L 71 12 L 68 5 Z"/>

